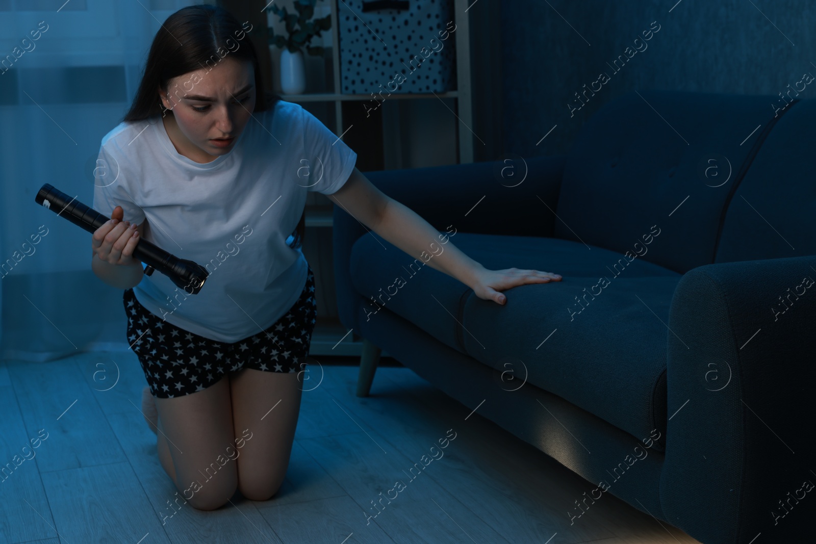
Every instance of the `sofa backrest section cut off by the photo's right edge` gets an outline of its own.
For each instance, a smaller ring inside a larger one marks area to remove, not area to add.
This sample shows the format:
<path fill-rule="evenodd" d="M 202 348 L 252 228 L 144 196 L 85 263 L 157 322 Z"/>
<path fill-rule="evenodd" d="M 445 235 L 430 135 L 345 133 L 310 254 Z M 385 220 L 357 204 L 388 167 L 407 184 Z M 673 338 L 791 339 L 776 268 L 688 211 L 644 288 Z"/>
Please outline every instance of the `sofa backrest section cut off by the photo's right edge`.
<path fill-rule="evenodd" d="M 735 188 L 717 263 L 816 255 L 816 100 L 787 110 Z"/>

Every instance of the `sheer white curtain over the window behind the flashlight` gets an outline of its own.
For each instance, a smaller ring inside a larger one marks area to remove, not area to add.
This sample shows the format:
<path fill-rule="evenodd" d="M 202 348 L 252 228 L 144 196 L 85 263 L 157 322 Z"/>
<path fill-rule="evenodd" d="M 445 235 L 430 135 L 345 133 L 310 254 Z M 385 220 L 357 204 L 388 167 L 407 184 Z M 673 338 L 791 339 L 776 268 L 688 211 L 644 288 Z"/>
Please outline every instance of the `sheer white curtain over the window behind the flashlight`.
<path fill-rule="evenodd" d="M 91 206 L 160 24 L 189 0 L 0 0 L 0 357 L 126 346 L 122 290 L 91 272 L 91 233 L 38 206 L 43 184 Z"/>

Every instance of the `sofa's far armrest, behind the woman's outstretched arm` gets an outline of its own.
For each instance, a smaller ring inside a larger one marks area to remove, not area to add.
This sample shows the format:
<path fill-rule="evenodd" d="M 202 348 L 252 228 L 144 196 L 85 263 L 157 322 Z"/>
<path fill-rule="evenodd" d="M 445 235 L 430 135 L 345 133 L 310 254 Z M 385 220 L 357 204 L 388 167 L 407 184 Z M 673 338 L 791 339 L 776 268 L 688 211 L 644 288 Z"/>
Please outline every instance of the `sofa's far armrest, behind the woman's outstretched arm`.
<path fill-rule="evenodd" d="M 376 170 L 365 175 L 380 191 L 414 210 L 440 232 L 451 225 L 457 232 L 552 237 L 563 170 L 564 157 L 534 157 Z M 352 246 L 366 234 L 366 228 L 340 206 L 334 206 L 333 219 L 339 318 L 353 328 L 359 295 L 349 275 L 349 262 Z"/>

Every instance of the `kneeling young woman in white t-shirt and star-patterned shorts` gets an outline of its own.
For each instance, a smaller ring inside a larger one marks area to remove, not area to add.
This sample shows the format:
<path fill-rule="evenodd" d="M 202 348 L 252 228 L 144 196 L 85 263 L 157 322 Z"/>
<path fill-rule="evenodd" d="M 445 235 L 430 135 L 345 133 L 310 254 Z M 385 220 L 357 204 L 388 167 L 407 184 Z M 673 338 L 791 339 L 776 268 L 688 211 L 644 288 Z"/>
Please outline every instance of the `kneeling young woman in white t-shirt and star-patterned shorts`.
<path fill-rule="evenodd" d="M 201 510 L 236 490 L 267 500 L 286 475 L 316 316 L 299 245 L 307 192 L 412 256 L 439 235 L 370 184 L 356 153 L 310 113 L 264 100 L 250 29 L 212 6 L 162 24 L 130 111 L 102 139 L 94 194 L 112 219 L 92 237 L 91 268 L 124 290 L 158 456 Z M 185 294 L 144 275 L 132 256 L 142 238 L 206 266 L 206 285 Z M 451 244 L 428 262 L 496 303 L 501 290 L 561 279 L 487 270 Z"/>

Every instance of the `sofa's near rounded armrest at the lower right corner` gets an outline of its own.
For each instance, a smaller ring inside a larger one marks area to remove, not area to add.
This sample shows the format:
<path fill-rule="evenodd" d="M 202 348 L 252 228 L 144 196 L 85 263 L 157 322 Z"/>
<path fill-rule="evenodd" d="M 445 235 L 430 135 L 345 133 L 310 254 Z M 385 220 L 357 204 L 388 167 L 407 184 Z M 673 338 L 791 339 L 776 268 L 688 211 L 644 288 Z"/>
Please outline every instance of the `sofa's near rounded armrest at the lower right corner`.
<path fill-rule="evenodd" d="M 814 279 L 811 255 L 708 264 L 677 285 L 660 494 L 667 521 L 702 542 L 805 534 L 816 498 L 796 504 L 816 483 Z"/>

